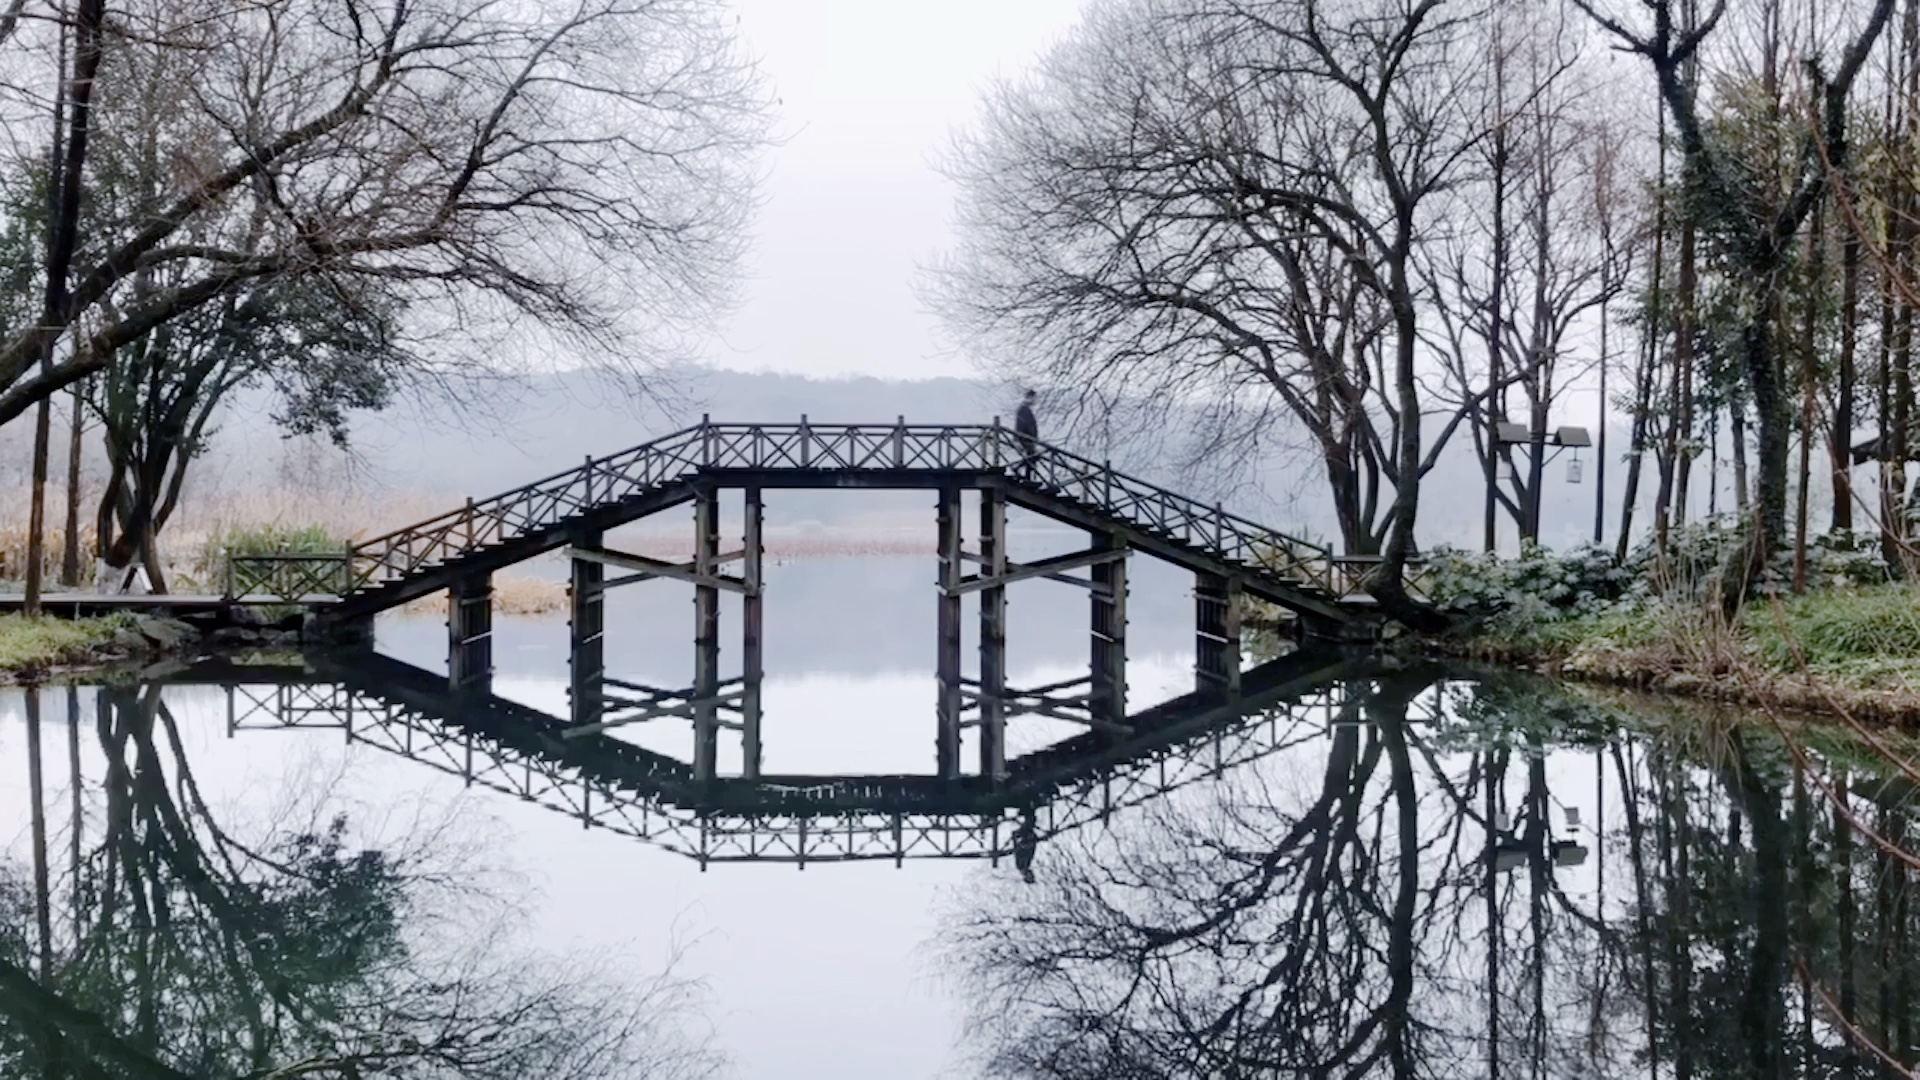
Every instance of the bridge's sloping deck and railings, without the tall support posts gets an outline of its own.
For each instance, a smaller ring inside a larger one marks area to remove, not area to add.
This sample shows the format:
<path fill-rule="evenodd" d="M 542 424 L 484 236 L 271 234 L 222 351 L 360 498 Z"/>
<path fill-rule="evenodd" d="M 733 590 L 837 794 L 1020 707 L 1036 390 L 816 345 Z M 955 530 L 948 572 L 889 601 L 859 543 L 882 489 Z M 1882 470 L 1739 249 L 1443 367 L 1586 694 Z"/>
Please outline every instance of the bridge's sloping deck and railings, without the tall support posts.
<path fill-rule="evenodd" d="M 1334 555 L 1325 544 L 1227 513 L 1044 442 L 1021 444 L 1000 425 L 735 425 L 703 421 L 576 469 L 534 480 L 440 517 L 396 528 L 332 553 L 240 555 L 228 592 L 307 601 L 328 619 L 357 619 L 457 586 L 474 575 L 530 559 L 582 538 L 741 488 L 749 507 L 766 488 L 914 488 L 958 503 L 979 490 L 991 502 L 1031 509 L 1106 540 L 1225 578 L 1233 592 L 1327 626 L 1369 625 L 1357 592 L 1369 559 Z M 952 515 L 948 515 L 952 517 Z M 749 528 L 756 521 L 749 515 Z M 950 523 L 958 538 L 958 517 Z M 983 523 L 983 538 L 1000 523 Z M 943 534 L 943 542 L 947 536 Z M 998 540 L 998 536 L 991 536 Z M 945 553 L 945 552 L 943 552 Z M 751 557 L 751 552 L 745 555 Z M 735 555 L 743 557 L 743 555 Z M 991 555 L 989 555 L 991 557 Z M 962 578 L 1043 577 L 1117 555 L 1069 555 L 1029 567 L 995 567 Z M 626 559 L 622 559 L 626 561 Z M 647 561 L 647 559 L 636 559 Z M 699 567 L 647 567 L 659 577 L 699 577 Z M 726 578 L 722 578 L 726 580 Z M 743 582 L 732 582 L 735 588 Z"/>

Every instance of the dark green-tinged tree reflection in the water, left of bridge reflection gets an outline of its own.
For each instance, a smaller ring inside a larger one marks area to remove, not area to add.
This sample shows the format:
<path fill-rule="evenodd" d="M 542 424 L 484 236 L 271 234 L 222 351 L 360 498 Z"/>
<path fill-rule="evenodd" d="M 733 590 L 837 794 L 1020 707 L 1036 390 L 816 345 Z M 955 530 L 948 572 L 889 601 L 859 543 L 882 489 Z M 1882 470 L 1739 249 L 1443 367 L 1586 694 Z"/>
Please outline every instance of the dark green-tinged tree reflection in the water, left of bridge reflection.
<path fill-rule="evenodd" d="M 691 1078 L 718 1070 L 699 988 L 516 947 L 520 896 L 451 815 L 369 842 L 317 778 L 261 828 L 202 798 L 159 690 L 102 690 L 94 730 L 29 692 L 35 867 L 0 861 L 0 1074 Z M 44 840 L 46 732 L 106 753 L 67 851 Z M 54 861 L 65 861 L 54 869 Z"/>

